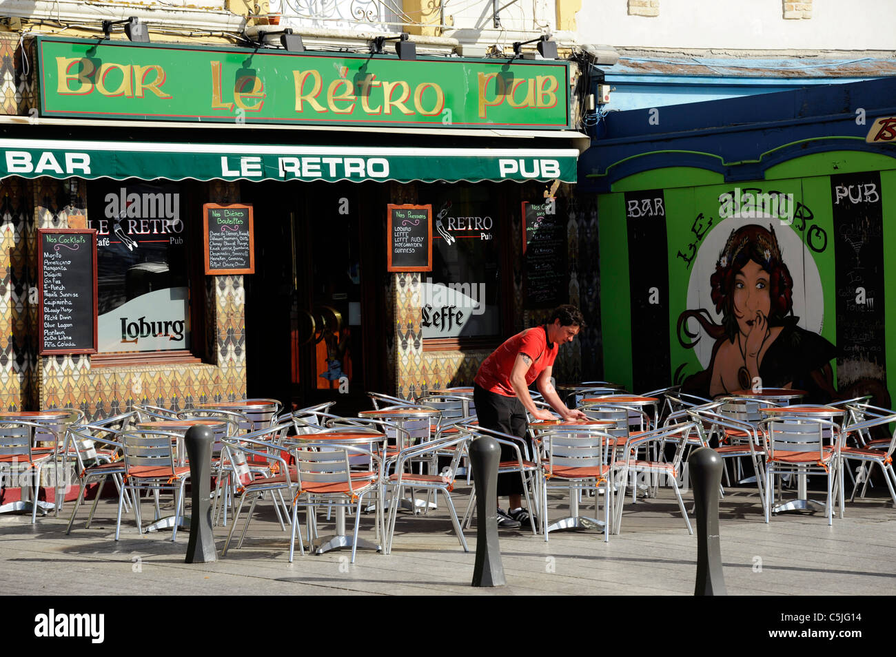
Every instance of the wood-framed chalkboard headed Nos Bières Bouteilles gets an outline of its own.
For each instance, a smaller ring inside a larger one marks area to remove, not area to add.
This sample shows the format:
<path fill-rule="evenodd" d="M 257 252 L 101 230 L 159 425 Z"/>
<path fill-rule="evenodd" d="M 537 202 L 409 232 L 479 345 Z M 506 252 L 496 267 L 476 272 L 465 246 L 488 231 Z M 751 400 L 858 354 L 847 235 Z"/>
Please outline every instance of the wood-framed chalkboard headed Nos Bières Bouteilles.
<path fill-rule="evenodd" d="M 254 274 L 252 206 L 205 203 L 202 206 L 206 274 Z"/>

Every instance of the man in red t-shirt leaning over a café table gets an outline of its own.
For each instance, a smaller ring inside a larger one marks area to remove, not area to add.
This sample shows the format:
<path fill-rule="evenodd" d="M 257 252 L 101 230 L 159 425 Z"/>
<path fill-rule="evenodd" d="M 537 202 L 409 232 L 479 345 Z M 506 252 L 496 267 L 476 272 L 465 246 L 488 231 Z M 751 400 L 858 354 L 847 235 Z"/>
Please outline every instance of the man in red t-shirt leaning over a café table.
<path fill-rule="evenodd" d="M 554 420 L 550 411 L 538 409 L 529 394 L 534 381 L 538 392 L 564 420 L 586 419 L 582 411 L 572 410 L 557 396 L 551 383 L 551 370 L 560 345 L 572 342 L 585 325 L 582 312 L 573 305 L 562 305 L 544 326 L 527 328 L 504 342 L 479 366 L 473 401 L 479 426 L 527 439 L 528 411 L 538 420 Z M 530 444 L 530 453 L 532 445 Z M 501 460 L 516 460 L 510 446 L 501 446 Z M 515 529 L 529 522 L 529 511 L 522 508 L 522 482 L 519 474 L 499 474 L 498 497 L 510 498 L 508 511 L 498 504 L 498 526 Z"/>

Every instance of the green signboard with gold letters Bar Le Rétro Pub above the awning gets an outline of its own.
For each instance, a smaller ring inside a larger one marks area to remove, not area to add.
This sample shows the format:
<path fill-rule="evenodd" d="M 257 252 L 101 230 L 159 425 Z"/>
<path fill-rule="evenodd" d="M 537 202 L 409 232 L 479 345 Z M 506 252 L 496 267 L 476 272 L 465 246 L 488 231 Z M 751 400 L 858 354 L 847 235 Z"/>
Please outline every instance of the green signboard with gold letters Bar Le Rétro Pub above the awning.
<path fill-rule="evenodd" d="M 39 38 L 45 116 L 570 127 L 569 64 Z"/>

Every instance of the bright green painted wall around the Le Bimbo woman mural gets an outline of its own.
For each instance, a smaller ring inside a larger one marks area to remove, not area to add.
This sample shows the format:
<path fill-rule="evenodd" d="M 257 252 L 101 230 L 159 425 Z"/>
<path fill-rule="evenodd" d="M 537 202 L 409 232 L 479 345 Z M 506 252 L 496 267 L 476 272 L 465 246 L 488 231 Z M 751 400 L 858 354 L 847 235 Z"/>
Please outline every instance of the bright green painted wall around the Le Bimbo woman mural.
<path fill-rule="evenodd" d="M 710 299 L 710 276 L 719 263 L 719 255 L 728 236 L 745 224 L 758 224 L 766 229 L 771 225 L 784 263 L 795 280 L 794 313 L 801 317 L 799 326 L 837 345 L 837 253 L 833 235 L 831 175 L 857 172 L 880 172 L 881 176 L 883 278 L 884 281 L 894 282 L 885 290 L 881 282 L 879 292 L 884 291 L 884 298 L 876 300 L 876 303 L 884 303 L 885 307 L 886 362 L 896 363 L 896 265 L 889 258 L 890 254 L 896 253 L 894 158 L 860 151 L 831 151 L 774 166 L 768 170 L 765 180 L 738 183 L 723 183 L 720 175 L 693 167 L 667 167 L 629 176 L 615 183 L 613 192 L 599 195 L 605 378 L 626 385 L 633 380 L 628 277 L 629 259 L 636 258 L 637 254 L 628 249 L 624 192 L 662 190 L 664 194 L 668 268 L 660 270 L 658 267 L 657 275 L 668 276 L 669 335 L 668 342 L 658 339 L 655 345 L 646 348 L 668 348 L 671 371 L 673 374 L 677 371 L 681 380 L 702 371 L 705 364 L 698 359 L 694 349 L 682 346 L 677 330 L 678 321 L 682 312 L 699 308 L 705 308 L 715 316 Z M 727 192 L 735 194 L 737 189 L 743 193 L 751 188 L 757 192 L 791 195 L 797 216 L 792 221 L 789 218 L 781 221 L 762 213 L 754 217 L 746 213 L 745 217 L 723 218 L 719 197 Z M 651 265 L 645 263 L 645 266 Z M 695 271 L 698 267 L 702 270 Z M 689 286 L 692 294 L 690 302 Z M 694 303 L 694 297 L 699 300 L 698 303 Z M 688 320 L 686 325 L 692 330 L 697 328 L 695 320 Z M 705 334 L 701 339 L 704 345 L 714 342 Z M 836 361 L 831 361 L 831 368 L 836 383 Z M 893 379 L 888 380 L 891 398 L 896 390 Z"/>

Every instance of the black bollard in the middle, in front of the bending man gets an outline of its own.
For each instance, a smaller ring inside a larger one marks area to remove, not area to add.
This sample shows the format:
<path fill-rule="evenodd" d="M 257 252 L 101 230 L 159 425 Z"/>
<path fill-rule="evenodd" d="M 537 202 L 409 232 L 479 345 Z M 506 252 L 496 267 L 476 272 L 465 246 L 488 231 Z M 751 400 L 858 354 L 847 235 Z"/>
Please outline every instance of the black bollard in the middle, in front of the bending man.
<path fill-rule="evenodd" d="M 504 566 L 498 543 L 498 464 L 501 446 L 491 436 L 470 443 L 470 465 L 476 486 L 476 566 L 473 586 L 504 586 Z"/>

